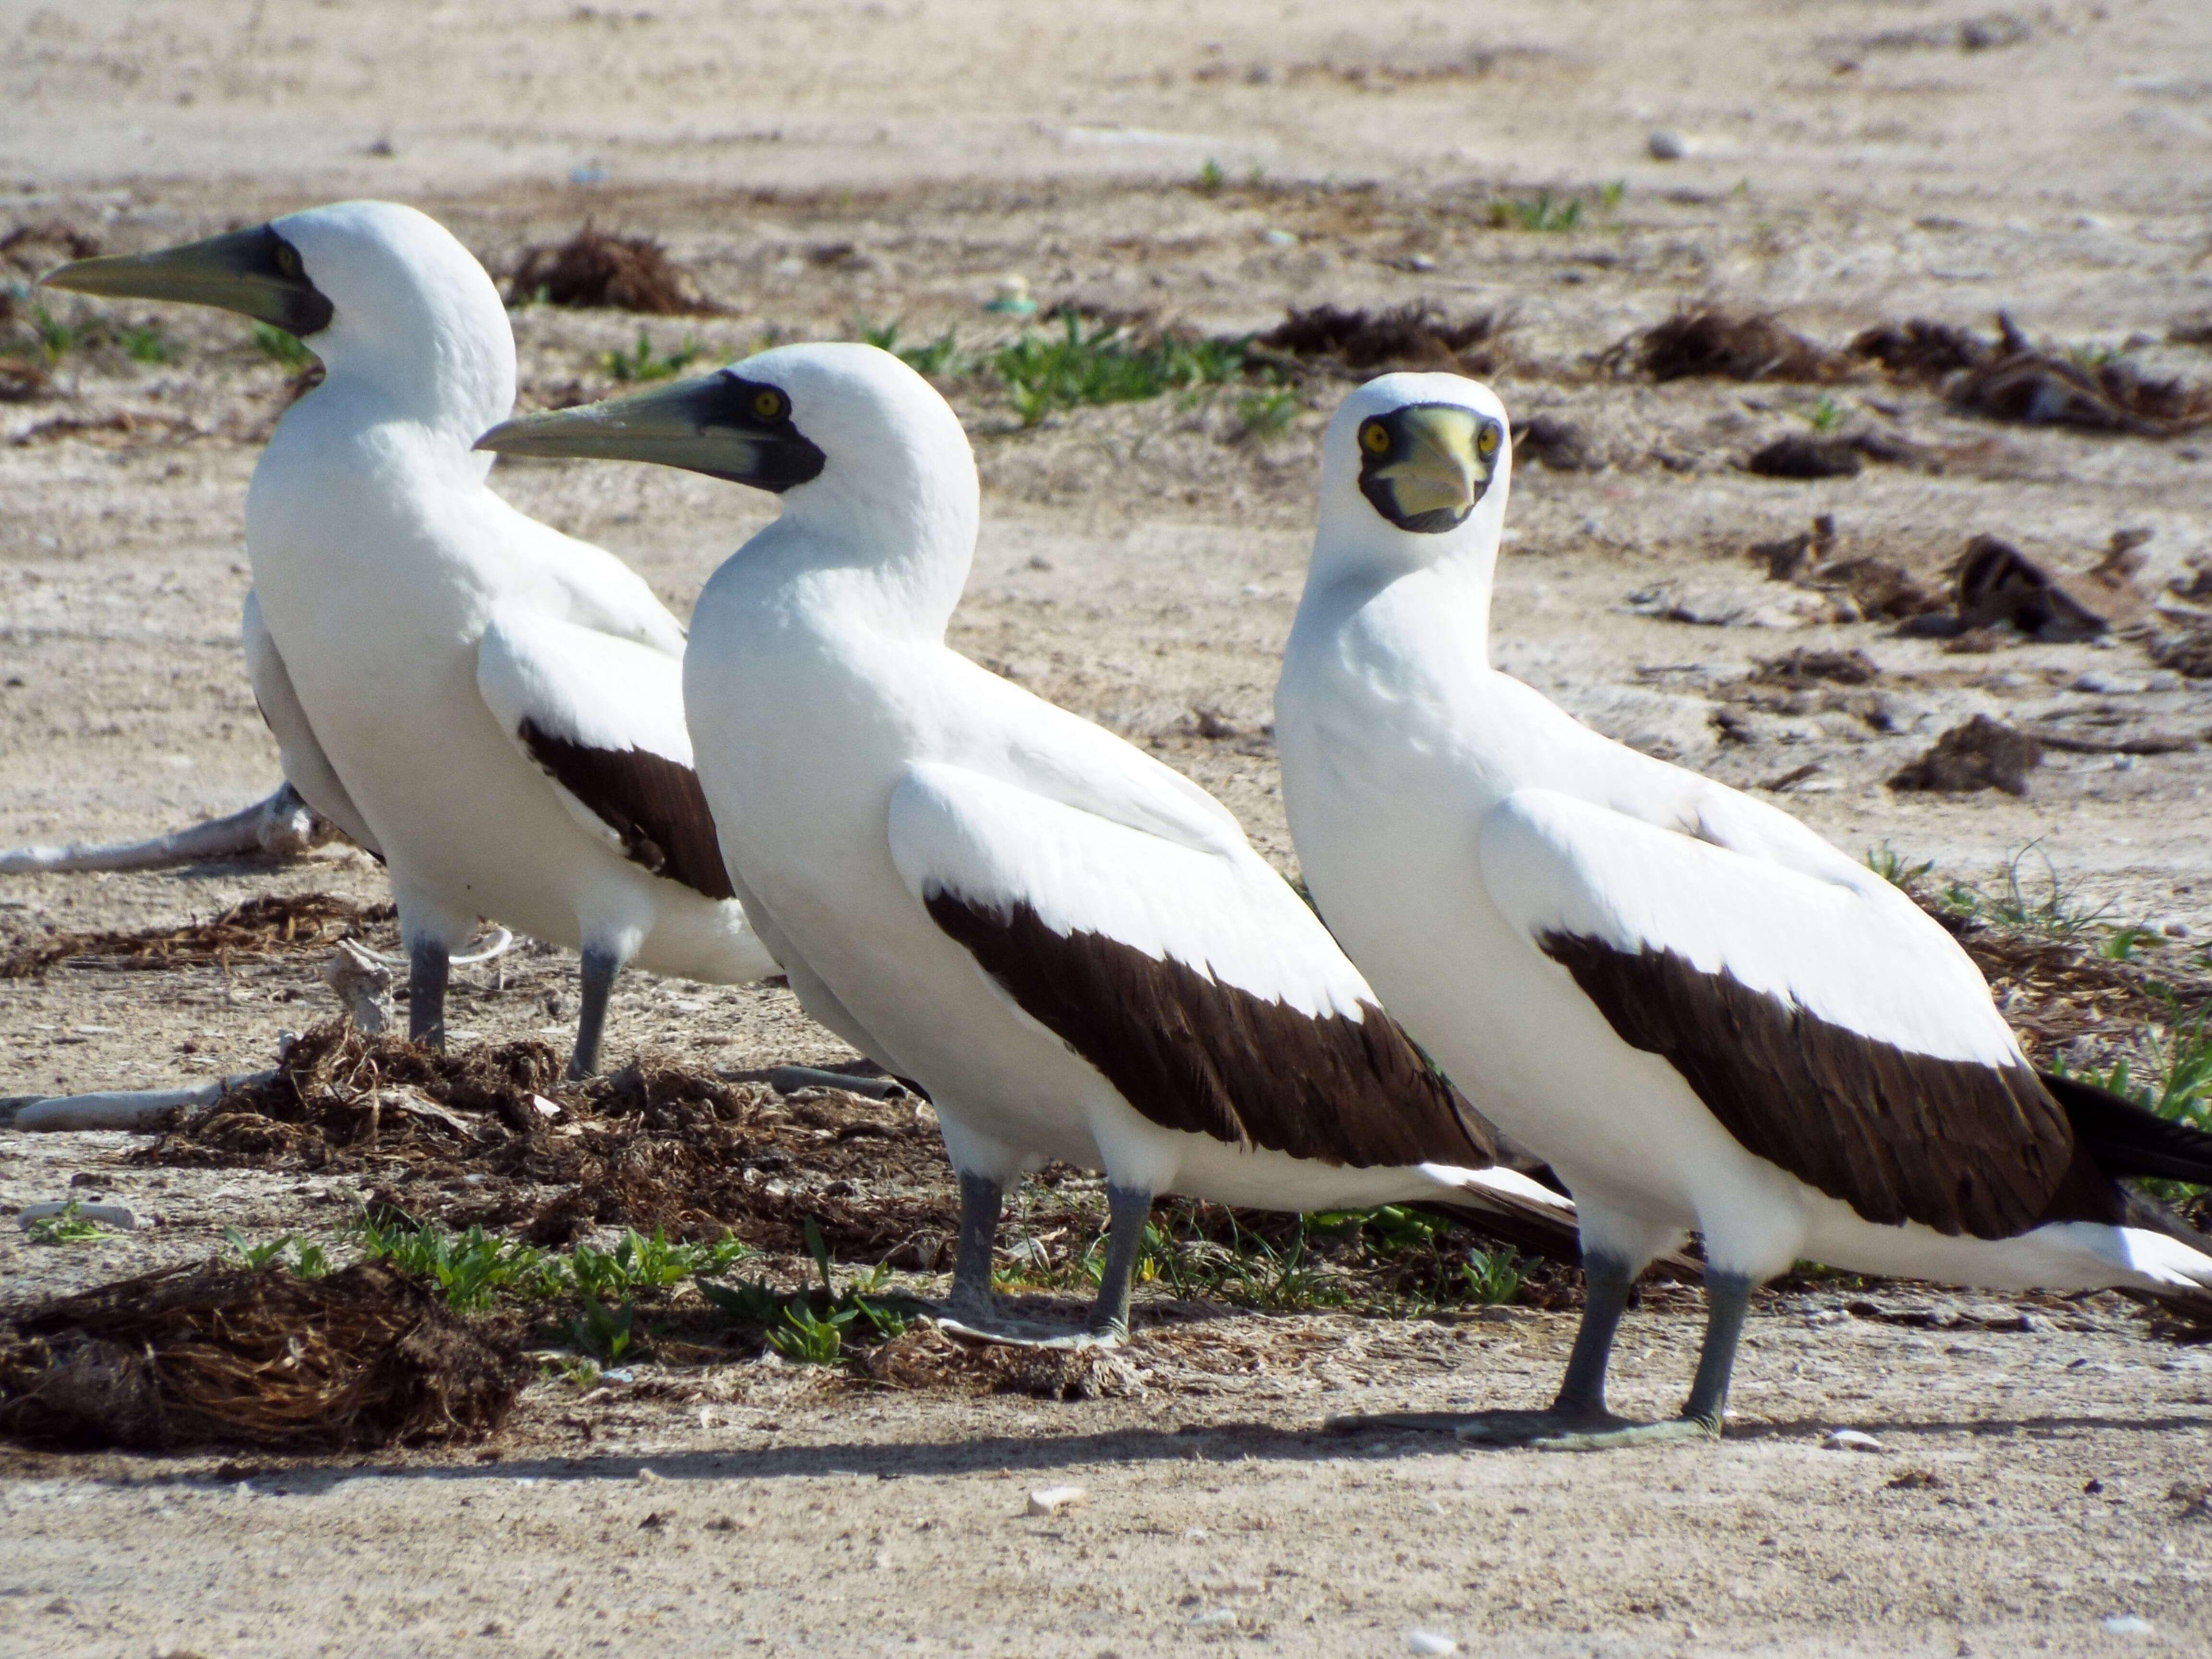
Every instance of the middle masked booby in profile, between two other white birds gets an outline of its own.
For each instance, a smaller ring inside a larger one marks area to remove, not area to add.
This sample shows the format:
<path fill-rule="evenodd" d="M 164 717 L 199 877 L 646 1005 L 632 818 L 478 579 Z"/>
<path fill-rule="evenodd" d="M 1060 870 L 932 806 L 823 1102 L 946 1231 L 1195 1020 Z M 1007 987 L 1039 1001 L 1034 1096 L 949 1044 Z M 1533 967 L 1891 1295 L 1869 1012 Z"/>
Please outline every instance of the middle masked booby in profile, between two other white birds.
<path fill-rule="evenodd" d="M 936 1102 L 958 1318 L 991 1321 L 1004 1188 L 1046 1159 L 1106 1170 L 1097 1334 L 1128 1327 L 1157 1192 L 1564 1230 L 1221 803 L 945 646 L 975 460 L 905 363 L 787 345 L 484 447 L 781 491 L 692 617 L 699 779 L 801 1004 Z"/>

